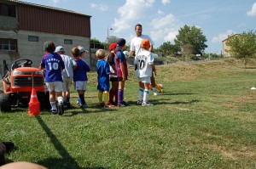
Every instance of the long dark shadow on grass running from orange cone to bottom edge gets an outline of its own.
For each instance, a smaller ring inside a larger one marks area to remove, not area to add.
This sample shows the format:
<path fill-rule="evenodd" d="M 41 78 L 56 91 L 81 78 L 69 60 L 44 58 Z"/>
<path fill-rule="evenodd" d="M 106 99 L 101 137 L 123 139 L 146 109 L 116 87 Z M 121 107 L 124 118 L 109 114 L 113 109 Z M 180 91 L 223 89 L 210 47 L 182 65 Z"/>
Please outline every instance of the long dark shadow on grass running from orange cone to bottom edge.
<path fill-rule="evenodd" d="M 71 155 L 67 152 L 67 149 L 61 144 L 61 142 L 58 140 L 58 138 L 55 137 L 55 134 L 50 131 L 49 127 L 44 123 L 43 119 L 37 115 L 36 116 L 38 123 L 41 125 L 41 127 L 44 129 L 44 132 L 49 137 L 51 143 L 55 146 L 55 149 L 59 152 L 61 155 L 61 159 L 58 158 L 47 158 L 43 161 L 38 161 L 38 164 L 42 166 L 46 166 L 48 168 L 62 168 L 62 169 L 76 169 L 76 168 L 91 168 L 91 169 L 103 169 L 102 166 L 95 166 L 95 167 L 81 167 L 73 159 Z"/>

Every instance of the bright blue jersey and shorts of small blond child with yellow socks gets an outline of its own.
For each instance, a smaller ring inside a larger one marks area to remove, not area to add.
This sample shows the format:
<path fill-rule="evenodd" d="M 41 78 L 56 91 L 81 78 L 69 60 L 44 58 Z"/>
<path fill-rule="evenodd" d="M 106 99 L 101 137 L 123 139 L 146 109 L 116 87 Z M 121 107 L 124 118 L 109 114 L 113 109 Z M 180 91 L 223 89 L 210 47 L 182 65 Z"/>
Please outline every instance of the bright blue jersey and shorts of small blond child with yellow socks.
<path fill-rule="evenodd" d="M 97 61 L 97 73 L 98 73 L 97 89 L 100 91 L 108 91 L 110 68 L 106 60 L 100 59 Z"/>

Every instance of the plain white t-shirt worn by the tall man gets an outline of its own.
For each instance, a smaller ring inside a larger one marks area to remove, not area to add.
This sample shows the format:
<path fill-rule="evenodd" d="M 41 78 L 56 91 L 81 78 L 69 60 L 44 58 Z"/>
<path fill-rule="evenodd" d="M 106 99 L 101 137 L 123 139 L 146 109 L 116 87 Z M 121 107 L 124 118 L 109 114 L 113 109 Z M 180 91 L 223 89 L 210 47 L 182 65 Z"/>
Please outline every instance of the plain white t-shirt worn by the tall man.
<path fill-rule="evenodd" d="M 139 53 L 139 51 L 141 50 L 141 44 L 142 44 L 143 39 L 148 39 L 150 42 L 150 45 L 154 45 L 154 42 L 152 41 L 152 39 L 150 37 L 148 37 L 148 35 L 142 35 L 141 37 L 133 37 L 131 39 L 130 50 L 135 51 L 135 55 L 137 55 Z"/>

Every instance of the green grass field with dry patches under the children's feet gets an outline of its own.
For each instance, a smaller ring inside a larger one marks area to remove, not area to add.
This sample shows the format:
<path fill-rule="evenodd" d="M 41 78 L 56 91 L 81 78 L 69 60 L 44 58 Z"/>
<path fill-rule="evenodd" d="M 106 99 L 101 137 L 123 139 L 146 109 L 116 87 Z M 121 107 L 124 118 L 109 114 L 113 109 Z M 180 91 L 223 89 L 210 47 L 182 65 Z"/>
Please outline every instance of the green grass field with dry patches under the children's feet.
<path fill-rule="evenodd" d="M 62 116 L 27 109 L 0 113 L 2 140 L 15 142 L 8 161 L 49 168 L 256 168 L 256 69 L 225 59 L 157 66 L 165 93 L 138 106 L 132 69 L 124 108 L 97 107 L 96 72 L 89 108 Z M 72 93 L 75 105 L 77 93 Z"/>

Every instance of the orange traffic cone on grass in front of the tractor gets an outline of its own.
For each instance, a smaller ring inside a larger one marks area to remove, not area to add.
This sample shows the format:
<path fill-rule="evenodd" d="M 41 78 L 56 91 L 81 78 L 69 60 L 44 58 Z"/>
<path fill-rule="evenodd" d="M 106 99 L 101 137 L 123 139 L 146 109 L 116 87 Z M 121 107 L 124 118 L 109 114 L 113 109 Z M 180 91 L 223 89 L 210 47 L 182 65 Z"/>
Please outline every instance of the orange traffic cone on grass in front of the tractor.
<path fill-rule="evenodd" d="M 32 88 L 32 93 L 28 106 L 28 114 L 32 115 L 40 115 L 40 103 L 38 101 L 38 95 L 35 88 Z"/>

